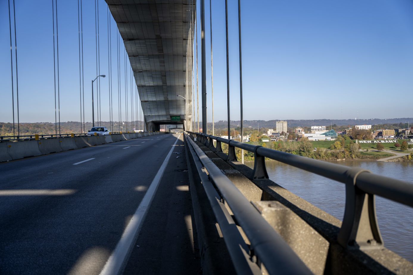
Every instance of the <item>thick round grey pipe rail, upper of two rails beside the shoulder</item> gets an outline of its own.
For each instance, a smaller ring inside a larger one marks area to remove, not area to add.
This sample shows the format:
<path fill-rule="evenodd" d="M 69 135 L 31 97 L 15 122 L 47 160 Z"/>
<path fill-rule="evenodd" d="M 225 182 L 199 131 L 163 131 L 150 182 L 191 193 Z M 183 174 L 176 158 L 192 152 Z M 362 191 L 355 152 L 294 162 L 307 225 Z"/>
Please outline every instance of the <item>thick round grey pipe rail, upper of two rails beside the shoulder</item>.
<path fill-rule="evenodd" d="M 188 137 L 188 136 L 186 136 Z M 251 250 L 264 264 L 269 274 L 311 274 L 292 248 L 252 206 L 234 183 L 209 159 L 195 142 L 188 138 L 202 165 L 221 193 L 247 235 Z"/>

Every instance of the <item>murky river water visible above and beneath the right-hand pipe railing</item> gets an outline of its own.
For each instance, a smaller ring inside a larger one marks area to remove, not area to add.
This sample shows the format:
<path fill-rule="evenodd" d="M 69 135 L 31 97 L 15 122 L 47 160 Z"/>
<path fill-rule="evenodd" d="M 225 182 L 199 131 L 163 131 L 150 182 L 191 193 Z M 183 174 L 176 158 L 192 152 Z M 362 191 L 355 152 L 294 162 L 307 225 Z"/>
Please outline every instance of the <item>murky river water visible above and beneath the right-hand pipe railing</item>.
<path fill-rule="evenodd" d="M 413 162 L 346 160 L 334 163 L 360 167 L 413 184 Z M 245 164 L 254 167 L 253 161 Z M 344 184 L 278 161 L 266 161 L 266 167 L 270 179 L 275 183 L 343 220 Z M 385 247 L 413 262 L 413 208 L 377 196 L 376 212 Z"/>

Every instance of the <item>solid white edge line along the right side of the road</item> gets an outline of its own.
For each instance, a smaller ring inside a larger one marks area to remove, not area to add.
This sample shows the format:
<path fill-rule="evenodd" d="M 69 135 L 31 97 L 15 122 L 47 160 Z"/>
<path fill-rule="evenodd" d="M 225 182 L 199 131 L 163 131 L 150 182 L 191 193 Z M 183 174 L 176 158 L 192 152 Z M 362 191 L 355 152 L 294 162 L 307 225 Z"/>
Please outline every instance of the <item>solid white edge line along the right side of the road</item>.
<path fill-rule="evenodd" d="M 102 271 L 100 272 L 101 275 L 119 274 L 124 268 L 124 264 L 126 263 L 129 254 L 132 251 L 133 244 L 138 238 L 140 228 L 142 227 L 143 221 L 145 220 L 145 216 L 147 214 L 147 210 L 152 203 L 155 192 L 158 189 L 159 182 L 161 181 L 162 175 L 164 174 L 166 165 L 171 158 L 172 151 L 173 149 L 175 149 L 175 145 L 178 140 L 179 136 L 173 144 L 168 155 L 166 156 L 164 162 L 162 163 L 161 168 L 159 168 L 158 173 L 155 175 L 155 178 L 152 180 L 152 183 L 147 190 L 145 197 L 143 197 L 142 202 L 140 202 L 138 209 L 136 209 L 135 214 L 133 214 L 131 220 L 126 226 L 125 231 L 123 231 L 122 237 L 116 245 L 115 250 L 112 252 Z"/>

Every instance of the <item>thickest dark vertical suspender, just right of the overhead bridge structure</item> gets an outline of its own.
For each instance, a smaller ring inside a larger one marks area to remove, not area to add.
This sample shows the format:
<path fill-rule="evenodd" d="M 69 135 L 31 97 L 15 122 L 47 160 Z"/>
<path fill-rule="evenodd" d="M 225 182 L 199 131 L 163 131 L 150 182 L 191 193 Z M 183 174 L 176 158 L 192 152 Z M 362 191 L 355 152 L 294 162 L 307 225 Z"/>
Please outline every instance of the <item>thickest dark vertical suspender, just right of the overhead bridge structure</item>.
<path fill-rule="evenodd" d="M 205 61 L 205 0 L 201 0 L 202 133 L 207 134 L 207 70 Z"/>

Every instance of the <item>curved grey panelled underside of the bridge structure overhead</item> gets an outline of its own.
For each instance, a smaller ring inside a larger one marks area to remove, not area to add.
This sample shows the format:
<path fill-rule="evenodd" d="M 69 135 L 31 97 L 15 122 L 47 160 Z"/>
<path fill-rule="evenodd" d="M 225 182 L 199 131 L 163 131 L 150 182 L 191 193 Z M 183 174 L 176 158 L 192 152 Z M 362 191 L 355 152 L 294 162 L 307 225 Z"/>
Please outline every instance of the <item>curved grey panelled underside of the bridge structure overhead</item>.
<path fill-rule="evenodd" d="M 180 116 L 180 123 L 190 121 L 195 2 L 106 2 L 118 25 L 131 62 L 147 127 L 177 123 L 171 122 L 171 116 Z"/>

